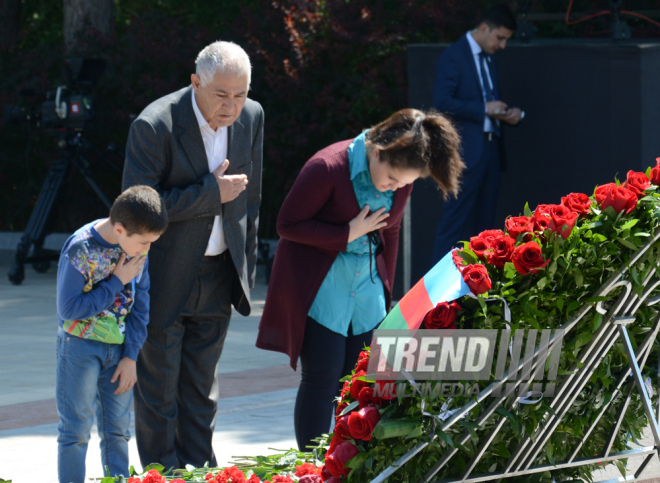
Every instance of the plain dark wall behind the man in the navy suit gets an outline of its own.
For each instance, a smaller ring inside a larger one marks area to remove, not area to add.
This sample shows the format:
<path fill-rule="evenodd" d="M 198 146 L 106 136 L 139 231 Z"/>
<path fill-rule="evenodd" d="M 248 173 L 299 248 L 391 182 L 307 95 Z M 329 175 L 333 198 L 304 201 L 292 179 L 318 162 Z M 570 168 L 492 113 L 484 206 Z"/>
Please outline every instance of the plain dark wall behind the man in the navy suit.
<path fill-rule="evenodd" d="M 410 107 L 432 107 L 436 63 L 445 47 L 408 47 Z M 520 214 L 526 202 L 534 209 L 559 203 L 570 192 L 590 195 L 615 175 L 623 180 L 630 169 L 655 165 L 660 156 L 659 43 L 511 42 L 496 56 L 502 100 L 521 107 L 525 119 L 504 128 L 508 169 L 493 228 Z M 442 212 L 433 183 L 415 182 L 411 209 L 414 285 L 431 268 Z"/>

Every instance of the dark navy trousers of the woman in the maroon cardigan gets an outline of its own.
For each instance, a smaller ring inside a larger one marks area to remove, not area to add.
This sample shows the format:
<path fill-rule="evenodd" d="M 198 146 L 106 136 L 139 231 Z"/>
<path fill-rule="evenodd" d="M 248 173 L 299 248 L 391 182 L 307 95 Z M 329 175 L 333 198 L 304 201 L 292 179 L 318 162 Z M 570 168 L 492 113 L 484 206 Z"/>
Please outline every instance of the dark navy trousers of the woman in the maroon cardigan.
<path fill-rule="evenodd" d="M 339 379 L 351 373 L 360 351 L 371 344 L 372 331 L 348 337 L 331 331 L 307 317 L 300 351 L 302 380 L 296 397 L 294 427 L 300 451 L 316 446 L 312 439 L 330 430 L 334 399 L 343 383 Z"/>

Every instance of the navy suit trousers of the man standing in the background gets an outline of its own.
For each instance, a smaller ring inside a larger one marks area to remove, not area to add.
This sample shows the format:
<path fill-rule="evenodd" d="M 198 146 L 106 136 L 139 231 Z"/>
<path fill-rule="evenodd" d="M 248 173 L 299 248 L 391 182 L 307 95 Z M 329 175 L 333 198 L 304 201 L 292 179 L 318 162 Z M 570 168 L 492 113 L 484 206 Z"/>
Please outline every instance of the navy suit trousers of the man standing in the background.
<path fill-rule="evenodd" d="M 459 241 L 469 241 L 495 227 L 495 208 L 500 190 L 499 140 L 484 141 L 479 162 L 463 173 L 461 192 L 444 204 L 433 247 L 437 263 Z M 460 247 L 462 248 L 462 246 Z"/>

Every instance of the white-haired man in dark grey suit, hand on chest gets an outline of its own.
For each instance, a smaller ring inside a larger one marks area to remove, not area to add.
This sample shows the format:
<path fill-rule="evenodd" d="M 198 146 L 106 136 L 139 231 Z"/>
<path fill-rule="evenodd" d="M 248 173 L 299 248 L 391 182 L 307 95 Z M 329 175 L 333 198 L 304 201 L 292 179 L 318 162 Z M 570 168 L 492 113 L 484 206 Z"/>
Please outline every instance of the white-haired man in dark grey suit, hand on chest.
<path fill-rule="evenodd" d="M 216 465 L 216 370 L 231 306 L 250 313 L 257 261 L 264 114 L 248 99 L 245 51 L 215 42 L 192 85 L 150 104 L 131 126 L 123 189 L 144 184 L 170 225 L 150 250 L 149 334 L 137 361 L 143 466 Z"/>

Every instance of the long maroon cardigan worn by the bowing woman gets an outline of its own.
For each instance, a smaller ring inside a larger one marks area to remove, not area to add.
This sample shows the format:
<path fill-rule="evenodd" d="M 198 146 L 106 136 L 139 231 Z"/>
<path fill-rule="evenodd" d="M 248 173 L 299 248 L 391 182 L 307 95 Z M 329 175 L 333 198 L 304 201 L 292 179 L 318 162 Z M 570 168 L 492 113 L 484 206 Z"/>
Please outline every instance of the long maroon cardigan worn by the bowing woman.
<path fill-rule="evenodd" d="M 284 352 L 295 370 L 307 314 L 339 252 L 346 251 L 348 223 L 360 213 L 348 166 L 348 146 L 341 141 L 316 153 L 300 171 L 277 217 L 277 245 L 257 347 Z M 383 249 L 376 257 L 392 302 L 392 281 L 399 230 L 412 185 L 394 192 L 387 226 L 380 230 Z"/>

